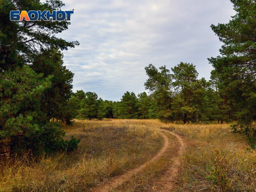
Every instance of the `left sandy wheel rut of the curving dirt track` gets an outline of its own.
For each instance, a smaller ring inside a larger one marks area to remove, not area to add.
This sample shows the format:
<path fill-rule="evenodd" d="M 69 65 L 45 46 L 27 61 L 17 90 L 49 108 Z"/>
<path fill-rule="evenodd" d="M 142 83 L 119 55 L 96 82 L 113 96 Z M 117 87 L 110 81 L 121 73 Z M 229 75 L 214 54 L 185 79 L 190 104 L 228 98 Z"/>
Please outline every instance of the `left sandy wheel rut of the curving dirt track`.
<path fill-rule="evenodd" d="M 147 161 L 146 163 L 142 164 L 139 167 L 136 167 L 128 172 L 125 172 L 122 175 L 118 175 L 116 177 L 111 178 L 110 182 L 108 182 L 108 183 L 104 184 L 103 186 L 98 187 L 92 191 L 93 192 L 108 192 L 111 189 L 111 187 L 117 187 L 118 184 L 121 184 L 121 183 L 127 181 L 129 178 L 131 178 L 133 176 L 133 174 L 142 171 L 142 169 L 144 169 L 148 163 L 151 163 L 151 162 L 155 161 L 156 159 L 158 159 L 160 156 L 162 156 L 164 154 L 164 152 L 167 150 L 169 141 L 168 141 L 168 138 L 166 135 L 164 135 L 163 133 L 161 133 L 161 135 L 164 138 L 164 145 L 160 149 L 160 151 L 155 156 L 153 156 L 149 161 Z"/>

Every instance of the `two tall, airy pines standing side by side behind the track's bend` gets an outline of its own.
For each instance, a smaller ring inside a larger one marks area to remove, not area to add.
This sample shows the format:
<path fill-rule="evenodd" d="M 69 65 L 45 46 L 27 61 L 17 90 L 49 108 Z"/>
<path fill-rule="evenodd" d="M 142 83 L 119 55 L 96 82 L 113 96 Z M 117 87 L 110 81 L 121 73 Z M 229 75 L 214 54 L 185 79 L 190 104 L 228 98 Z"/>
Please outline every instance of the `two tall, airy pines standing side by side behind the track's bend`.
<path fill-rule="evenodd" d="M 150 64 L 145 67 L 148 80 L 145 88 L 151 93 L 156 108 L 155 116 L 164 122 L 182 120 L 204 121 L 205 116 L 205 88 L 208 83 L 205 79 L 198 80 L 195 66 L 189 63 L 180 63 L 172 68 L 173 74 L 165 66 L 158 69 Z M 174 80 L 174 81 L 173 81 Z M 151 113 L 153 114 L 153 113 Z"/>

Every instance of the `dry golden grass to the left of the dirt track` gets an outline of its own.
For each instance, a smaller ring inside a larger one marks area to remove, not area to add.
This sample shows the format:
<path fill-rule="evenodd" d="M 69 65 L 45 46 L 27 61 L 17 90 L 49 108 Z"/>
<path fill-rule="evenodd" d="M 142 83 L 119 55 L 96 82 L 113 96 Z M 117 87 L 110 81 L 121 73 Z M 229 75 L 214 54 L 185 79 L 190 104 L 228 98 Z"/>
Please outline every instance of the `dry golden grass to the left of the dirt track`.
<path fill-rule="evenodd" d="M 157 120 L 75 121 L 65 127 L 66 138 L 80 144 L 72 153 L 0 160 L 0 191 L 89 191 L 114 175 L 151 158 L 162 145 Z"/>

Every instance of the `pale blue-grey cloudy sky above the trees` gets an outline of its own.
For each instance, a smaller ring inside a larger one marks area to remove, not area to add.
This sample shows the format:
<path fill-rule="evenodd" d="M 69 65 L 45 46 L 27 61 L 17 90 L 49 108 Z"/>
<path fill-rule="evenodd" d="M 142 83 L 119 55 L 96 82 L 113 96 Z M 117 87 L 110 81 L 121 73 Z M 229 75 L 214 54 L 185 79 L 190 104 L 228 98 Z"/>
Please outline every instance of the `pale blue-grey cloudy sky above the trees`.
<path fill-rule="evenodd" d="M 193 63 L 210 78 L 207 58 L 222 45 L 211 24 L 234 15 L 229 0 L 63 0 L 74 9 L 71 25 L 58 36 L 80 45 L 64 51 L 75 75 L 73 91 L 93 91 L 119 101 L 126 91 L 145 91 L 144 67 Z M 147 92 L 147 91 L 146 91 Z"/>

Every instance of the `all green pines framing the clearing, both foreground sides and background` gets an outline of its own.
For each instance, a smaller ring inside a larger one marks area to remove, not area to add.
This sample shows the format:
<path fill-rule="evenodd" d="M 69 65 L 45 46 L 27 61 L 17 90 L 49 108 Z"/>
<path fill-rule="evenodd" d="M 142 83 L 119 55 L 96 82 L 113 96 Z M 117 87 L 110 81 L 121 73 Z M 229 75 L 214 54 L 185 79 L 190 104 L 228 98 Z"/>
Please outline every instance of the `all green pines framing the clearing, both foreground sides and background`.
<path fill-rule="evenodd" d="M 231 0 L 236 15 L 211 25 L 223 42 L 220 56 L 209 58 L 211 80 L 198 79 L 195 65 L 167 69 L 145 67 L 145 92 L 124 93 L 121 101 L 103 101 L 96 93 L 72 92 L 73 73 L 62 50 L 79 42 L 55 35 L 70 22 L 10 21 L 11 10 L 59 10 L 59 0 L 3 0 L 0 4 L 0 153 L 71 151 L 79 140 L 64 140 L 58 121 L 77 118 L 158 118 L 164 122 L 230 122 L 234 133 L 256 145 L 256 2 Z M 52 121 L 56 119 L 58 121 Z"/>

